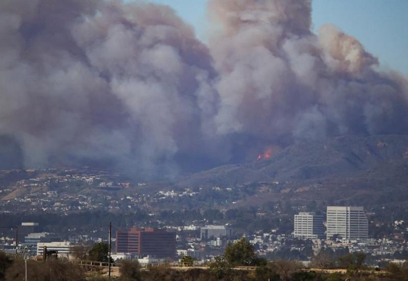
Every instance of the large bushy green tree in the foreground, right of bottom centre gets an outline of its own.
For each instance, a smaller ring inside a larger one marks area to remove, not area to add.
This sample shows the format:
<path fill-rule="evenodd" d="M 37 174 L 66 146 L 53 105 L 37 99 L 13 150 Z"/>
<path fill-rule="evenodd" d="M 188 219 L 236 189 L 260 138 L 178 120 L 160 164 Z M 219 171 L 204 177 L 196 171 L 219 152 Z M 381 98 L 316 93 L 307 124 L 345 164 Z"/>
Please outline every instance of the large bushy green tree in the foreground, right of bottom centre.
<path fill-rule="evenodd" d="M 237 243 L 228 243 L 224 252 L 225 260 L 233 266 L 257 266 L 263 263 L 253 251 L 253 246 L 245 237 Z"/>

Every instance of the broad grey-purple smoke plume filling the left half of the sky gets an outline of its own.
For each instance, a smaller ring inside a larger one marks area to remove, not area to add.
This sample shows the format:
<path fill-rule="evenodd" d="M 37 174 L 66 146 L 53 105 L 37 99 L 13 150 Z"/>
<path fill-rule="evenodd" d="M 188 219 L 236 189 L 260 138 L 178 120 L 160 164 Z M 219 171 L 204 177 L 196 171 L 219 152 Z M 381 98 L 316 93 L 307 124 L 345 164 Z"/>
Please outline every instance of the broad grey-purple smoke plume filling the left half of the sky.
<path fill-rule="evenodd" d="M 170 8 L 6 0 L 0 13 L 0 132 L 25 166 L 172 173 L 216 145 L 211 57 Z"/>

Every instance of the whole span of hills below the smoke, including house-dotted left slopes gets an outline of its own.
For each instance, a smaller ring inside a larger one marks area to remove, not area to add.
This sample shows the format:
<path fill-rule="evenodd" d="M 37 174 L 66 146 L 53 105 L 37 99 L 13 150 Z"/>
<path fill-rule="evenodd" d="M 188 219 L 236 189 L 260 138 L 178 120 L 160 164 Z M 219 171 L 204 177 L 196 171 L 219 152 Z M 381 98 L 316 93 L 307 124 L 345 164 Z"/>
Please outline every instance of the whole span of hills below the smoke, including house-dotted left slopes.
<path fill-rule="evenodd" d="M 407 182 L 408 135 L 341 136 L 173 181 L 135 180 L 91 168 L 2 171 L 0 198 L 6 209 L 76 210 L 85 205 L 121 210 L 129 200 L 153 210 L 230 209 L 277 201 L 325 209 L 408 203 Z"/>

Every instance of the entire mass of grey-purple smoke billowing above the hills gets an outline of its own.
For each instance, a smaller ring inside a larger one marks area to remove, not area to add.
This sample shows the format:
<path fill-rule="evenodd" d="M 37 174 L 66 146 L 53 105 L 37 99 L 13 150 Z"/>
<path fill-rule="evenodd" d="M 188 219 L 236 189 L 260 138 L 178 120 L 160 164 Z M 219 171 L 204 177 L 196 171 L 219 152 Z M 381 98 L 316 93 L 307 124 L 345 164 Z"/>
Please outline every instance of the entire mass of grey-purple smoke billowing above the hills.
<path fill-rule="evenodd" d="M 406 78 L 333 26 L 313 34 L 309 1 L 212 0 L 209 13 L 206 46 L 166 6 L 0 2 L 0 146 L 25 167 L 173 175 L 408 133 Z"/>

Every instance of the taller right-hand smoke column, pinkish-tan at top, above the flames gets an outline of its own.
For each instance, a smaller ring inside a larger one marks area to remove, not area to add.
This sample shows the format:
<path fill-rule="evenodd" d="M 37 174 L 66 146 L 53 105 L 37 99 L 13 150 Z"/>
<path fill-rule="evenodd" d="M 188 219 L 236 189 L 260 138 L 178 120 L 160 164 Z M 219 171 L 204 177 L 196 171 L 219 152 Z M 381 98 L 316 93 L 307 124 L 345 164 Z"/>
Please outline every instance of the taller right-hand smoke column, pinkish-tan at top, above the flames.
<path fill-rule="evenodd" d="M 267 142 L 408 133 L 406 80 L 332 26 L 311 33 L 311 3 L 214 0 L 219 133 Z M 405 83 L 405 84 L 404 84 Z"/>

